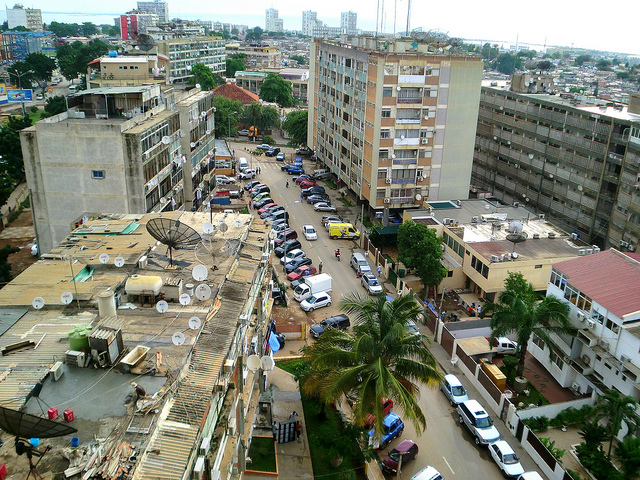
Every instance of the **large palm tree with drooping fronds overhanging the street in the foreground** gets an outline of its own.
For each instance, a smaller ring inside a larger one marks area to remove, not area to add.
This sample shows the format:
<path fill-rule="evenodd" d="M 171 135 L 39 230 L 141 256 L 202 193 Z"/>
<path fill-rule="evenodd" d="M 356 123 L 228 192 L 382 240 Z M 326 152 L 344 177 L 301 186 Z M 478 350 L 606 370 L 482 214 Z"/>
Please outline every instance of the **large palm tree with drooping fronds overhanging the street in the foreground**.
<path fill-rule="evenodd" d="M 329 329 L 305 350 L 311 371 L 302 389 L 333 403 L 342 395 L 355 398 L 353 420 L 358 426 L 369 414 L 375 416 L 375 431 L 383 431 L 382 399 L 390 398 L 404 411 L 405 419 L 418 430 L 426 419 L 417 399 L 417 382 L 435 386 L 442 375 L 422 335 L 407 330 L 410 320 L 422 313 L 413 295 L 392 302 L 384 296 L 374 299 L 351 294 L 340 308 L 355 314 L 353 333 Z"/>

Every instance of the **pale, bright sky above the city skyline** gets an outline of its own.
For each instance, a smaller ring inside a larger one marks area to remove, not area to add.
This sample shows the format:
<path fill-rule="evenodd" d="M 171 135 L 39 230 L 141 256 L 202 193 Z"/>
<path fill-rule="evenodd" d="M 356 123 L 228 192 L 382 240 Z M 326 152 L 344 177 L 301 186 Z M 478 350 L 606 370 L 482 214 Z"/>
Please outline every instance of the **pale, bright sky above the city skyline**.
<path fill-rule="evenodd" d="M 606 11 L 605 4 L 592 1 L 575 2 L 503 2 L 485 3 L 471 0 L 430 2 L 427 0 L 324 0 L 320 4 L 293 0 L 258 0 L 224 2 L 211 0 L 169 1 L 171 18 L 218 20 L 265 27 L 265 10 L 278 9 L 284 28 L 299 30 L 302 11 L 313 10 L 318 19 L 329 26 L 340 25 L 340 12 L 358 14 L 358 28 L 392 33 L 405 30 L 407 6 L 411 1 L 410 28 L 439 30 L 452 37 L 488 40 L 505 47 L 516 42 L 538 45 L 592 48 L 640 55 L 637 36 L 638 5 L 632 0 L 620 0 Z M 110 2 L 78 2 L 77 0 L 47 0 L 24 3 L 27 8 L 40 8 L 45 23 L 59 22 L 113 24 L 113 18 L 136 8 L 136 0 Z M 10 6 L 8 4 L 8 6 Z M 383 12 L 378 15 L 377 12 Z M 634 13 L 635 12 L 635 13 Z M 6 19 L 6 13 L 0 14 Z M 380 29 L 379 29 L 380 30 Z"/>

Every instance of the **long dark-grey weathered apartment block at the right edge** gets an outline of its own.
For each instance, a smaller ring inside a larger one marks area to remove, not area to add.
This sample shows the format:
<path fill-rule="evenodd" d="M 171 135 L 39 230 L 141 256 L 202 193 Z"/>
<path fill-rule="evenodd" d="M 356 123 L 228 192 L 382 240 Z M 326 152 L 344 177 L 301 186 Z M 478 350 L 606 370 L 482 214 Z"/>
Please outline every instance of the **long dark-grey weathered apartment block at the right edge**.
<path fill-rule="evenodd" d="M 629 108 L 483 87 L 472 187 L 600 247 L 640 241 L 640 97 Z M 635 112 L 635 114 L 634 114 Z"/>

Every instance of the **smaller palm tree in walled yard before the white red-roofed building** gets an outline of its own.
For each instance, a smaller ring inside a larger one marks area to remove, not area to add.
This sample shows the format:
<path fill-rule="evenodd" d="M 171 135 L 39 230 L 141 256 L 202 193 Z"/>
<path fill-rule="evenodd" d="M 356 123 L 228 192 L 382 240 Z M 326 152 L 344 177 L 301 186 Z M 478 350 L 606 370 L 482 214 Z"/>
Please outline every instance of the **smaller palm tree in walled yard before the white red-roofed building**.
<path fill-rule="evenodd" d="M 492 315 L 492 338 L 516 334 L 519 350 L 516 373 L 520 377 L 524 373 L 524 360 L 531 335 L 535 334 L 551 349 L 551 333 L 562 335 L 575 332 L 568 318 L 567 304 L 553 296 L 540 300 L 533 285 L 527 283 L 524 286 L 523 280 L 521 273 L 509 272 L 505 290 L 498 295 L 498 301 L 488 302 L 483 308 L 486 314 Z"/>

